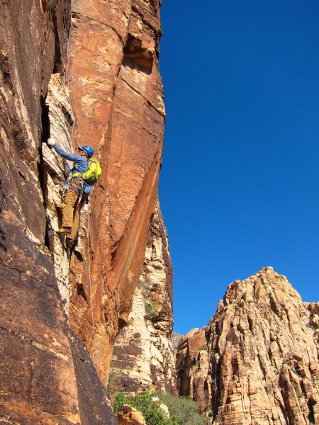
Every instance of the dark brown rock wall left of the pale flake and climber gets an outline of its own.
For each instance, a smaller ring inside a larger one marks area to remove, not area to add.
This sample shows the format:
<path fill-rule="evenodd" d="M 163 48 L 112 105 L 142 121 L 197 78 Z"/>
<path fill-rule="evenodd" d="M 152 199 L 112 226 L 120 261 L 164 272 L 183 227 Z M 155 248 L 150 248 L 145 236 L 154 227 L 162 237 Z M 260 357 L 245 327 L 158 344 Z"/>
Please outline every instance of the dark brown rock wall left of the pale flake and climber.
<path fill-rule="evenodd" d="M 65 67 L 69 2 L 1 1 L 1 28 L 0 421 L 79 424 L 40 187 L 44 96 Z"/>

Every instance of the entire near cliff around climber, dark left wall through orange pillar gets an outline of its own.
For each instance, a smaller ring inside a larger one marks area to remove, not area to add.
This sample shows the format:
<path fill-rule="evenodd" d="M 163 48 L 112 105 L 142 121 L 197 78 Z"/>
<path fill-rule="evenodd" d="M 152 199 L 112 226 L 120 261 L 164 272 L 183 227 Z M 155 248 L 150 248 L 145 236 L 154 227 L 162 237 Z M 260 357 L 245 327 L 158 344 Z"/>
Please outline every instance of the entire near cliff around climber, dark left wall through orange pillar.
<path fill-rule="evenodd" d="M 0 421 L 115 424 L 103 385 L 162 156 L 159 1 L 0 4 Z M 91 145 L 103 169 L 71 259 L 47 137 Z"/>

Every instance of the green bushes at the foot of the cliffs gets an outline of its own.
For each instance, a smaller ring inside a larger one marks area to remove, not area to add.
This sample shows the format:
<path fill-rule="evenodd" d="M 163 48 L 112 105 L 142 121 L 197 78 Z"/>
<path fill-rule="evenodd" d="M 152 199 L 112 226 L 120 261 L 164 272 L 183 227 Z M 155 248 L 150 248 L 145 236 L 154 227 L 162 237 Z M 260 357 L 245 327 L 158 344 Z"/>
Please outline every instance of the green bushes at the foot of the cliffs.
<path fill-rule="evenodd" d="M 160 402 L 153 402 L 158 397 L 169 409 L 170 418 L 159 408 Z M 144 390 L 133 397 L 125 396 L 123 391 L 115 397 L 115 410 L 123 404 L 129 404 L 142 412 L 147 425 L 205 425 L 206 418 L 198 412 L 198 403 L 189 397 L 174 397 L 168 392 L 151 392 Z"/>

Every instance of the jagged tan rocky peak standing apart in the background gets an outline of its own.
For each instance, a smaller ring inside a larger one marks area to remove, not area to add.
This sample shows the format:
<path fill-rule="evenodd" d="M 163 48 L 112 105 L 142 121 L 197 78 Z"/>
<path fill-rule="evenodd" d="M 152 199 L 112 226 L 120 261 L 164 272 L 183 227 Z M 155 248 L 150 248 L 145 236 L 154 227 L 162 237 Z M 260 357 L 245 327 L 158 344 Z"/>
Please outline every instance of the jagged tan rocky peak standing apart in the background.
<path fill-rule="evenodd" d="M 264 268 L 232 283 L 208 326 L 180 341 L 179 391 L 213 424 L 319 424 L 318 333 L 318 304 Z"/>

